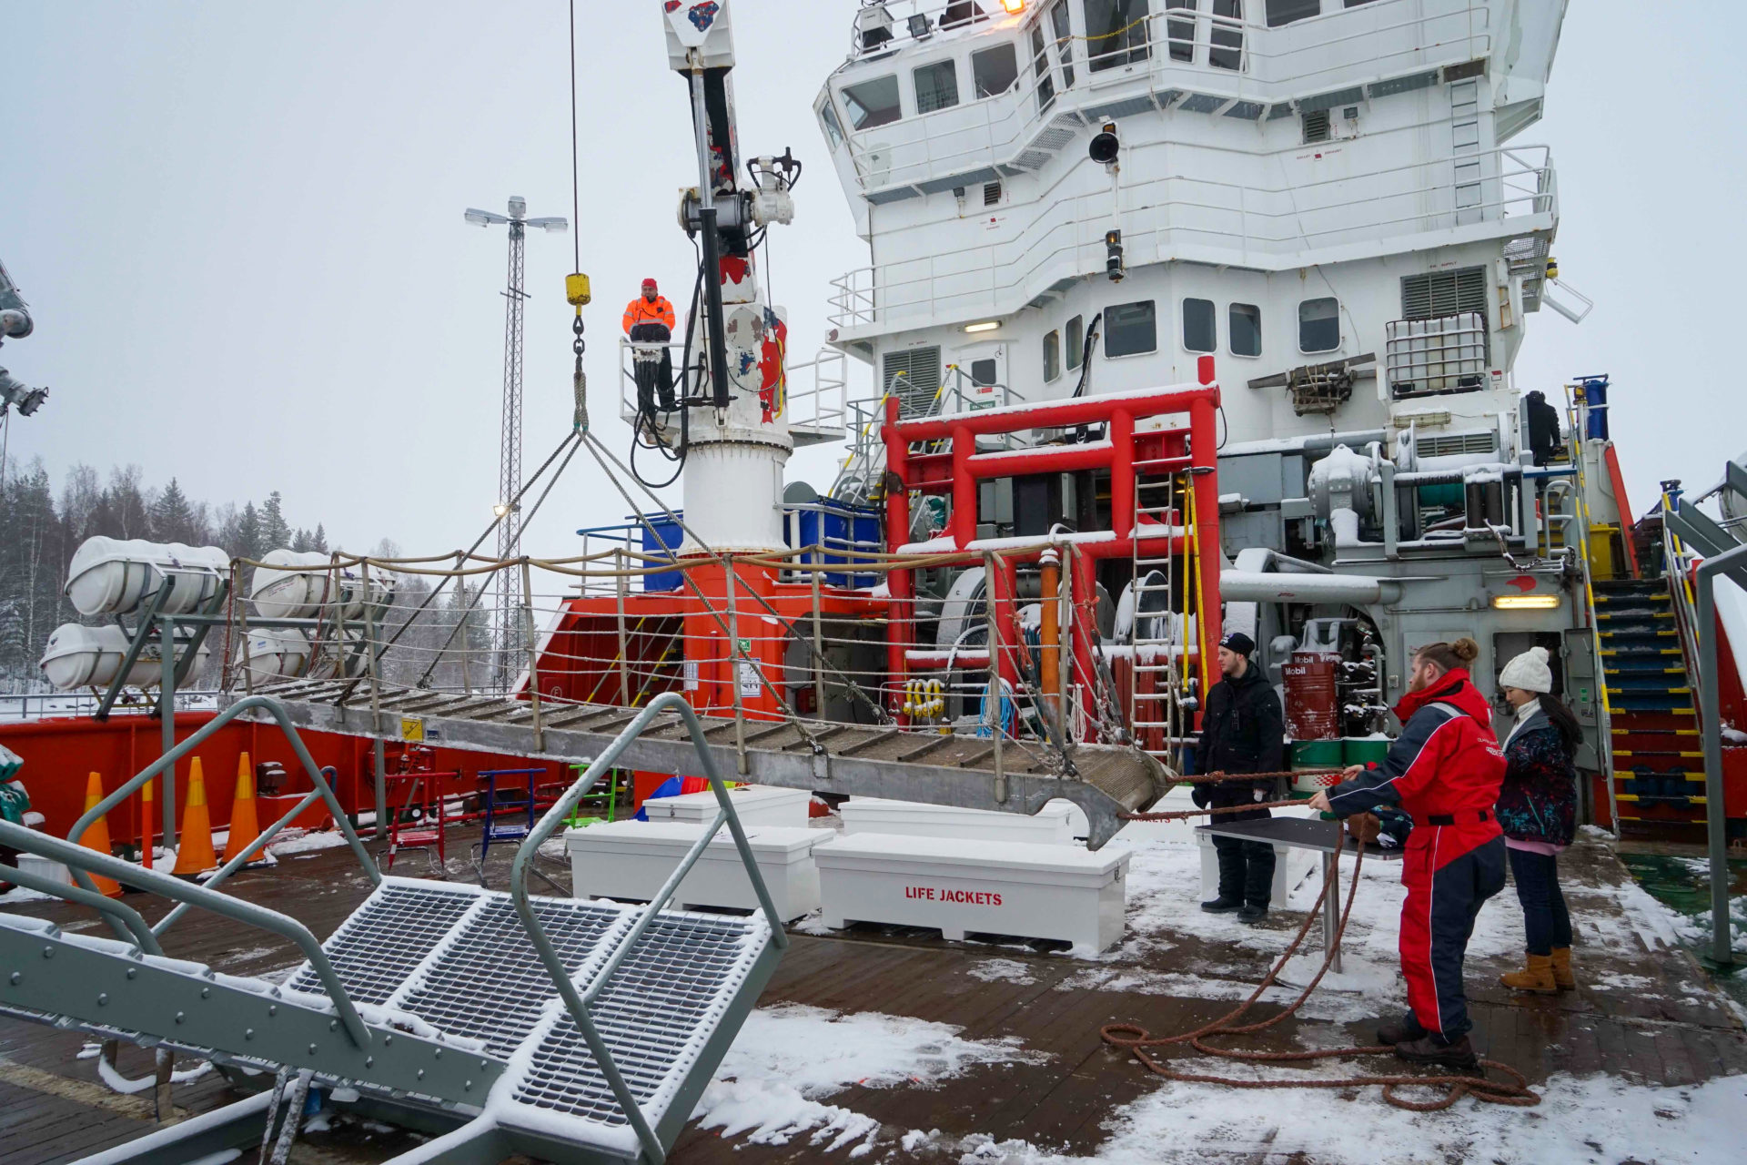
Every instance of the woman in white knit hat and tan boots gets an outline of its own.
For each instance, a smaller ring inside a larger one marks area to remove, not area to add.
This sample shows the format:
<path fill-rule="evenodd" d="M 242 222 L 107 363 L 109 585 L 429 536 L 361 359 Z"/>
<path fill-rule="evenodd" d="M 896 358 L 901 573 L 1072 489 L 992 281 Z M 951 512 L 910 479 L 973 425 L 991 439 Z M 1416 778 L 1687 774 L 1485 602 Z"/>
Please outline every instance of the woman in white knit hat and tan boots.
<path fill-rule="evenodd" d="M 1578 769 L 1572 762 L 1583 730 L 1569 707 L 1551 695 L 1553 669 L 1546 648 L 1529 648 L 1499 672 L 1499 688 L 1516 709 L 1504 737 L 1504 784 L 1497 817 L 1504 830 L 1516 900 L 1523 906 L 1527 966 L 1501 975 L 1515 990 L 1571 990 L 1571 915 L 1558 889 L 1558 854 L 1578 830 Z"/>

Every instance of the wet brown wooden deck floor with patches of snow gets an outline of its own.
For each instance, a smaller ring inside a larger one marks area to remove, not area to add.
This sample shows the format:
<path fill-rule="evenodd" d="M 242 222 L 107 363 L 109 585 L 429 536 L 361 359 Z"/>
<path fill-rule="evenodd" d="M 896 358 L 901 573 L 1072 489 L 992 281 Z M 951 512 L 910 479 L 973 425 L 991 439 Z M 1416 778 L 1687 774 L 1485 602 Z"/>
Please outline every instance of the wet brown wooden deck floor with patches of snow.
<path fill-rule="evenodd" d="M 797 924 L 760 1010 L 671 1160 L 1380 1165 L 1738 1155 L 1747 1100 L 1742 1010 L 1686 954 L 1691 924 L 1640 889 L 1597 837 L 1583 837 L 1562 861 L 1578 931 L 1578 992 L 1520 997 L 1497 987 L 1497 973 L 1520 959 L 1522 947 L 1509 889 L 1481 912 L 1469 952 L 1476 1041 L 1529 1076 L 1544 1095 L 1539 1107 L 1460 1100 L 1447 1113 L 1415 1114 L 1385 1106 L 1377 1090 L 1256 1093 L 1146 1076 L 1106 1050 L 1097 1029 L 1137 1022 L 1177 1032 L 1223 1013 L 1272 966 L 1315 896 L 1310 879 L 1260 927 L 1204 915 L 1195 908 L 1198 854 L 1188 830 L 1148 828 L 1150 837 L 1125 831 L 1113 842 L 1134 851 L 1129 929 L 1094 959 L 1017 941 L 949 943 L 935 931 L 856 927 L 826 936 L 812 933 L 818 922 Z M 458 835 L 456 852 L 465 840 Z M 494 851 L 494 884 L 501 884 L 498 861 Z M 452 865 L 463 877 L 463 863 Z M 1398 873 L 1394 865 L 1366 868 L 1343 947 L 1345 973 L 1254 1046 L 1370 1043 L 1368 1020 L 1401 1010 Z M 556 868 L 554 875 L 563 879 Z M 318 934 L 367 893 L 344 851 L 297 854 L 273 872 L 238 875 L 232 886 L 302 917 Z M 3 908 L 98 929 L 89 915 L 45 901 L 14 900 Z M 238 975 L 283 975 L 300 961 L 271 936 L 199 915 L 185 919 L 168 947 Z M 1302 982 L 1315 961 L 1312 950 L 1288 976 Z M 1258 1017 L 1293 994 L 1268 992 Z M 124 1074 L 143 1076 L 148 1064 L 148 1053 L 122 1050 Z M 0 1144 L 9 1165 L 68 1162 L 152 1128 L 148 1100 L 105 1088 L 96 1065 L 80 1058 L 79 1036 L 0 1020 L 7 1100 Z M 1251 1074 L 1223 1062 L 1200 1067 Z M 1350 1067 L 1329 1062 L 1312 1071 L 1333 1076 Z M 215 1072 L 176 1086 L 178 1106 L 190 1113 L 225 1099 Z M 330 1130 L 309 1135 L 321 1160 L 379 1162 L 412 1144 L 363 1120 L 316 1118 L 318 1127 L 327 1123 Z"/>

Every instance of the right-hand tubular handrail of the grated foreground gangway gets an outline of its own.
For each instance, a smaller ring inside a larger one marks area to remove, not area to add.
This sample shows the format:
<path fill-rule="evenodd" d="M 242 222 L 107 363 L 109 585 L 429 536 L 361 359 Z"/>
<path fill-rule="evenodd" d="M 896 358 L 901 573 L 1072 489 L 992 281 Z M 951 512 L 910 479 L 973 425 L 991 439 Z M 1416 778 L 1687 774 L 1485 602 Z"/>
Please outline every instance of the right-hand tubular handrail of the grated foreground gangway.
<path fill-rule="evenodd" d="M 685 730 L 692 737 L 692 746 L 697 749 L 699 762 L 704 767 L 704 776 L 709 779 L 709 788 L 716 793 L 716 819 L 699 835 L 692 849 L 687 851 L 685 858 L 680 861 L 678 868 L 657 891 L 655 898 L 638 917 L 631 931 L 618 941 L 613 954 L 608 955 L 604 966 L 594 976 L 594 985 L 589 987 L 585 994 L 577 992 L 577 985 L 570 982 L 570 969 L 564 966 L 563 955 L 547 938 L 545 927 L 540 926 L 538 915 L 535 915 L 533 903 L 528 896 L 528 870 L 533 865 L 533 856 L 538 852 L 557 826 L 564 823 L 570 810 L 582 800 L 592 788 L 594 782 L 601 779 L 603 772 L 610 772 L 618 760 L 618 755 L 631 746 L 643 730 L 648 728 L 650 721 L 660 713 L 674 709 L 680 713 L 680 720 L 685 721 Z M 648 1118 L 643 1116 L 643 1109 L 638 1106 L 636 1097 L 631 1093 L 631 1086 L 625 1083 L 624 1074 L 613 1062 L 613 1053 L 608 1050 L 606 1041 L 601 1037 L 599 1029 L 594 1025 L 594 1018 L 589 1015 L 589 1004 L 592 1004 L 601 992 L 606 989 L 608 980 L 618 971 L 618 966 L 631 955 L 632 947 L 643 938 L 643 934 L 655 924 L 660 910 L 680 889 L 680 882 L 685 875 L 692 872 L 697 859 L 709 847 L 709 842 L 716 837 L 722 826 L 728 826 L 728 833 L 734 835 L 734 849 L 739 851 L 741 863 L 746 866 L 746 877 L 751 879 L 753 893 L 758 894 L 758 906 L 763 910 L 765 919 L 770 922 L 770 936 L 776 947 L 781 950 L 788 947 L 788 933 L 783 929 L 783 919 L 777 917 L 776 903 L 770 900 L 770 891 L 763 884 L 763 877 L 758 873 L 758 861 L 753 858 L 751 844 L 746 840 L 746 830 L 741 828 L 741 817 L 734 809 L 734 802 L 728 798 L 728 789 L 722 782 L 722 774 L 716 772 L 716 762 L 709 756 L 709 748 L 704 742 L 704 727 L 697 721 L 697 713 L 692 706 L 685 702 L 685 697 L 678 692 L 662 692 L 648 706 L 638 713 L 625 728 L 613 737 L 599 756 L 582 772 L 580 777 L 564 791 L 557 802 L 547 809 L 545 816 L 528 835 L 528 840 L 521 844 L 515 851 L 515 865 L 510 868 L 510 896 L 515 900 L 515 912 L 522 917 L 522 927 L 528 931 L 528 940 L 535 945 L 540 954 L 540 961 L 545 964 L 547 973 L 552 976 L 552 983 L 557 987 L 557 994 L 564 999 L 564 1008 L 570 1011 L 570 1018 L 577 1024 L 577 1031 L 582 1034 L 583 1043 L 589 1044 L 589 1051 L 594 1055 L 596 1062 L 601 1065 L 601 1074 L 606 1078 L 608 1086 L 613 1090 L 613 1097 L 618 1100 L 618 1107 L 624 1111 L 625 1120 L 631 1121 L 632 1130 L 638 1134 L 638 1142 L 643 1146 L 643 1153 L 648 1156 L 648 1165 L 662 1165 L 667 1160 L 667 1151 L 660 1144 L 660 1137 L 650 1127 Z"/>

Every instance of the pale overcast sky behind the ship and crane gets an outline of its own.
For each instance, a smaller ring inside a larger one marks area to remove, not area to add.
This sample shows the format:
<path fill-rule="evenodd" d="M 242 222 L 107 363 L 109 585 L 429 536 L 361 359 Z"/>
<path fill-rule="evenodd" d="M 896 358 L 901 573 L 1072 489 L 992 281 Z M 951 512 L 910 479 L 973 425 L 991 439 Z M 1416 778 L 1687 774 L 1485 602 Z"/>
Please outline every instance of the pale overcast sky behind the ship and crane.
<path fill-rule="evenodd" d="M 646 274 L 681 311 L 690 290 L 673 211 L 695 159 L 655 7 L 578 5 L 580 222 L 528 241 L 529 470 L 570 430 L 573 239 L 596 288 L 596 430 L 617 449 L 618 313 Z M 867 262 L 811 115 L 856 7 L 735 3 L 742 152 L 809 162 L 795 225 L 770 232 L 797 360 L 823 339 L 830 279 Z M 1710 484 L 1747 447 L 1730 290 L 1747 5 L 1654 10 L 1574 0 L 1546 119 L 1516 140 L 1553 148 L 1560 274 L 1597 300 L 1583 327 L 1530 316 L 1518 384 L 1612 374 L 1640 510 L 1658 479 Z M 461 211 L 521 194 L 571 215 L 561 0 L 0 0 L 0 259 L 37 318 L 0 363 L 52 391 L 14 417 L 14 458 L 56 484 L 75 461 L 136 461 L 210 501 L 280 489 L 293 526 L 351 548 L 472 541 L 496 493 L 505 238 Z M 837 452 L 790 475 L 825 486 Z M 570 552 L 570 531 L 622 514 L 578 458 L 528 548 Z"/>

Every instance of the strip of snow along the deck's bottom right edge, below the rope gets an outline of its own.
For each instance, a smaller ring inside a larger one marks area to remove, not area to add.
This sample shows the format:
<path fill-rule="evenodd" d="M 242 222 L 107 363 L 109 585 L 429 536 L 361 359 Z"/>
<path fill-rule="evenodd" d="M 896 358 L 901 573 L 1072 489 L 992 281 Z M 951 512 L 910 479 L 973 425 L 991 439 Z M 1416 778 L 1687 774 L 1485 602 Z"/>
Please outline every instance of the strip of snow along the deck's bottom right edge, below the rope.
<path fill-rule="evenodd" d="M 1095 1156 L 1060 1156 L 1024 1141 L 970 1139 L 964 1165 L 1169 1165 L 1209 1151 L 1312 1162 L 1492 1162 L 1497 1165 L 1614 1165 L 1616 1162 L 1730 1162 L 1724 1130 L 1747 1106 L 1747 1076 L 1696 1086 L 1633 1086 L 1611 1076 L 1555 1076 L 1534 1109 L 1460 1100 L 1443 1113 L 1408 1113 L 1335 1092 L 1265 1093 L 1212 1085 L 1167 1085 L 1118 1109 Z M 1289 1109 L 1288 1116 L 1274 1116 Z M 1363 1125 L 1361 1125 L 1363 1121 Z M 1363 1132 L 1361 1132 L 1363 1128 Z"/>

